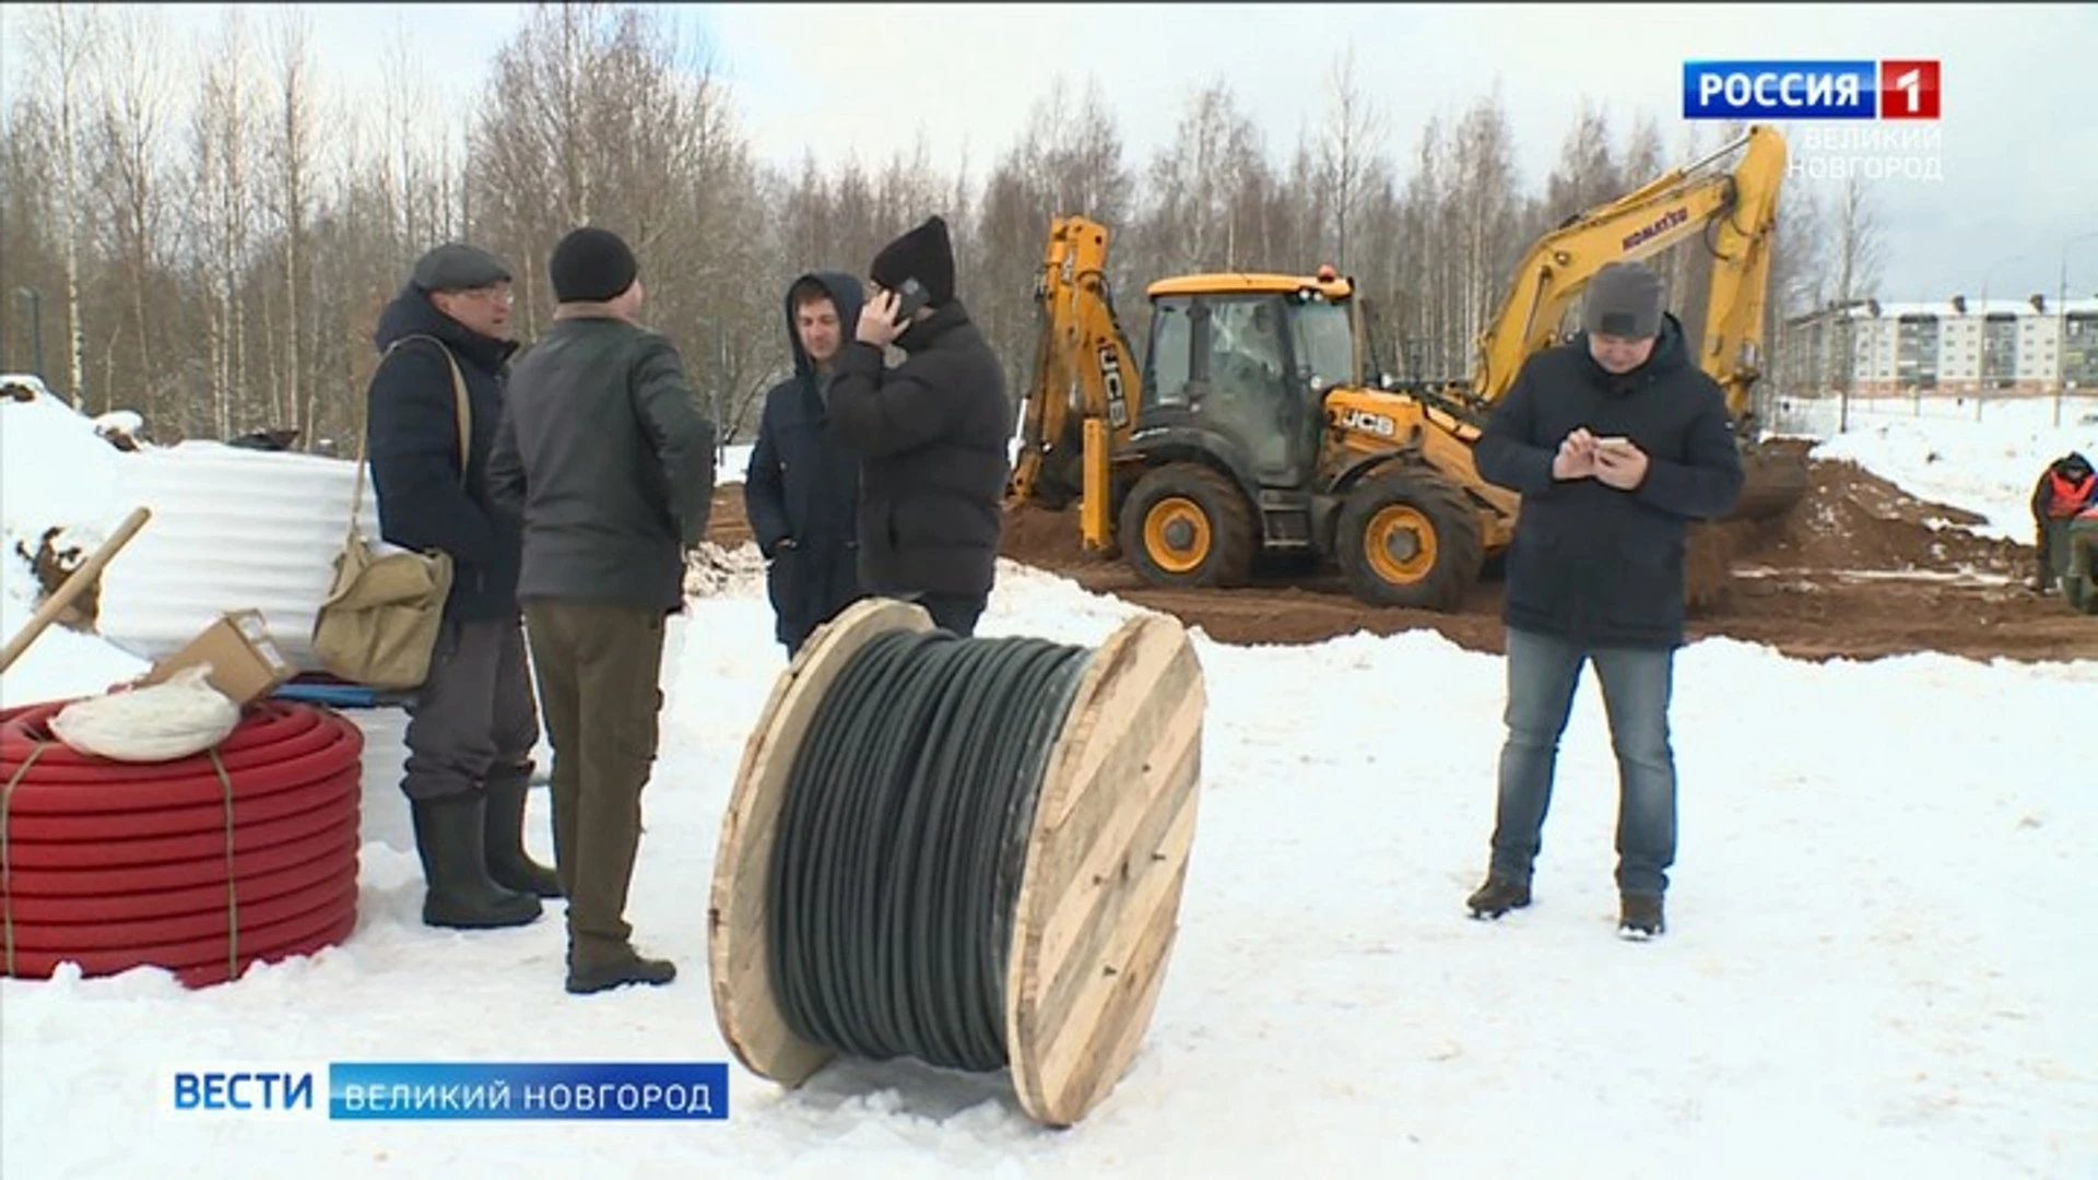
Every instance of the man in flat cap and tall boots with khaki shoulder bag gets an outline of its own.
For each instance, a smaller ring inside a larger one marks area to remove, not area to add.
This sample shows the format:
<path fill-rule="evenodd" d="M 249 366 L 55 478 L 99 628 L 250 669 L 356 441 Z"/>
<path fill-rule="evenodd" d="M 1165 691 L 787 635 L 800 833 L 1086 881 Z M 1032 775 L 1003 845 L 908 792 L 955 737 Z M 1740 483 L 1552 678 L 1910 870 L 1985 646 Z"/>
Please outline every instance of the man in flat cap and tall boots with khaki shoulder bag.
<path fill-rule="evenodd" d="M 554 871 L 524 852 L 539 710 L 516 598 L 520 540 L 489 502 L 489 449 L 516 351 L 510 300 L 501 258 L 445 244 L 415 262 L 373 332 L 382 359 L 365 439 L 382 535 L 453 563 L 401 781 L 432 926 L 522 926 L 539 918 L 539 899 L 560 894 Z"/>

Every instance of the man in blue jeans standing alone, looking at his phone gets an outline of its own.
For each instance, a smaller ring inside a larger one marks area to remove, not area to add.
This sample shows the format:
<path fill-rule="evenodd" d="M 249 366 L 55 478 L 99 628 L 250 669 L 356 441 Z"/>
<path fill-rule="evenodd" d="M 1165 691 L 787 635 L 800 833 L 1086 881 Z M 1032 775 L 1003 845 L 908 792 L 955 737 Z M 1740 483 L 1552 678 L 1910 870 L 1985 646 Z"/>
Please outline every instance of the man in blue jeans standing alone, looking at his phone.
<path fill-rule="evenodd" d="M 1733 510 L 1741 456 L 1718 382 L 1691 363 L 1660 277 L 1611 262 L 1582 332 L 1529 357 L 1473 449 L 1523 496 L 1508 550 L 1506 726 L 1487 880 L 1467 905 L 1529 905 L 1559 737 L 1594 663 L 1618 756 L 1618 930 L 1651 939 L 1676 857 L 1668 735 L 1689 521 Z"/>

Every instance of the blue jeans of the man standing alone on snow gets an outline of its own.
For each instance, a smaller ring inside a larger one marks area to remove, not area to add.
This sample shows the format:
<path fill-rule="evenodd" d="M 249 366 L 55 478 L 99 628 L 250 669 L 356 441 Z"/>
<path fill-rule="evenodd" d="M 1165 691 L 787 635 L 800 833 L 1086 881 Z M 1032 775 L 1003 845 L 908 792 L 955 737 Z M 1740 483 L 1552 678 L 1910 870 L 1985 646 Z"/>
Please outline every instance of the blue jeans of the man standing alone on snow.
<path fill-rule="evenodd" d="M 1676 859 L 1676 764 L 1668 743 L 1674 651 L 1582 649 L 1515 628 L 1508 628 L 1508 741 L 1500 750 L 1492 871 L 1529 882 L 1544 846 L 1559 735 L 1590 661 L 1618 754 L 1618 888 L 1660 894 Z"/>

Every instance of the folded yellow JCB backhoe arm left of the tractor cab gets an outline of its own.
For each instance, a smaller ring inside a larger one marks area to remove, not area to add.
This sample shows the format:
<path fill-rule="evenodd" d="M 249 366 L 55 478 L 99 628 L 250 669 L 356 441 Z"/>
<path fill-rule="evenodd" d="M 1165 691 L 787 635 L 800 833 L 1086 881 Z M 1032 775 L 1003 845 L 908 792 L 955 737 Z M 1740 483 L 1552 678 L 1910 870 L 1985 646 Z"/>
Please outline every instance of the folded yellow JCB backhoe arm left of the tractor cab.
<path fill-rule="evenodd" d="M 1011 500 L 1064 508 L 1089 496 L 1087 430 L 1104 458 L 1135 428 L 1141 374 L 1108 294 L 1108 231 L 1083 216 L 1049 227 L 1043 269 L 1034 279 L 1041 315 L 1034 372 L 1020 420 Z M 1097 475 L 1095 475 L 1097 479 Z"/>

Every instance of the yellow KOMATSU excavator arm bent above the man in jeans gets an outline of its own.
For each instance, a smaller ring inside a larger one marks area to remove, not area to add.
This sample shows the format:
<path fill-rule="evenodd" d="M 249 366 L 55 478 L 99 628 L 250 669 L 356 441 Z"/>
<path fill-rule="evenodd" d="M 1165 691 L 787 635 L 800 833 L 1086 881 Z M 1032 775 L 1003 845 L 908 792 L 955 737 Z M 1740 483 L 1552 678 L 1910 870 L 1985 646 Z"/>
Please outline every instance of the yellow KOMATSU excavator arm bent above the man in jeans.
<path fill-rule="evenodd" d="M 1722 170 L 1718 164 L 1735 151 L 1741 151 L 1739 162 Z M 1712 283 L 1697 365 L 1727 391 L 1727 409 L 1739 422 L 1760 376 L 1764 286 L 1783 174 L 1785 141 L 1775 128 L 1752 126 L 1718 151 L 1540 237 L 1515 269 L 1500 315 L 1479 336 L 1471 380 L 1475 409 L 1498 401 L 1523 361 L 1555 342 L 1561 319 L 1597 271 L 1706 233 Z"/>

